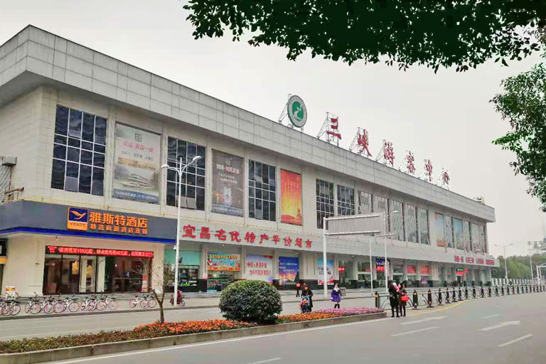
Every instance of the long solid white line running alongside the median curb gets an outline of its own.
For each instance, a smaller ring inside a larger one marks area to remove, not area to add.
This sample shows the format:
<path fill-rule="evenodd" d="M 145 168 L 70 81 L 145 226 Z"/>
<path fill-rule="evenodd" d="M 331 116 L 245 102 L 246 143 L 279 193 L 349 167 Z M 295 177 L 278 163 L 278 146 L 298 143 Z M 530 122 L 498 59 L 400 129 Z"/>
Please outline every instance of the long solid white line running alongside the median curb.
<path fill-rule="evenodd" d="M 259 338 L 269 338 L 271 336 L 281 336 L 281 335 L 289 335 L 292 333 L 301 333 L 306 331 L 316 331 L 316 330 L 331 330 L 332 328 L 338 328 L 343 326 L 353 326 L 353 325 L 360 325 L 365 323 L 375 323 L 380 321 L 390 320 L 390 318 L 385 319 L 377 319 L 377 320 L 370 320 L 370 321 L 358 321 L 358 322 L 351 322 L 351 323 L 341 323 L 339 325 L 330 325 L 330 326 L 321 326 L 321 327 L 314 327 L 314 328 L 302 328 L 301 330 L 294 330 L 294 331 L 284 331 L 282 333 L 264 333 L 263 335 L 255 335 L 255 336 L 245 336 L 243 338 L 229 338 L 226 340 L 218 340 L 218 341 L 206 341 L 205 343 L 196 343 L 196 344 L 188 344 L 188 345 L 181 345 L 181 346 L 166 346 L 165 348 L 156 348 L 156 349 L 148 349 L 148 350 L 138 350 L 138 351 L 129 351 L 127 353 L 119 353 L 119 354 L 112 354 L 112 355 L 100 355 L 95 356 L 92 358 L 82 358 L 82 359 L 75 359 L 75 360 L 65 360 L 65 361 L 58 361 L 55 363 L 59 364 L 68 364 L 68 363 L 81 363 L 85 361 L 92 361 L 92 360 L 102 360 L 104 358 L 119 358 L 122 356 L 130 356 L 130 355 L 142 355 L 144 353 L 156 353 L 159 351 L 166 351 L 166 350 L 181 350 L 186 348 L 195 348 L 196 346 L 209 346 L 209 345 L 217 345 L 222 343 L 232 343 L 235 341 L 245 341 L 245 340 L 255 340 Z"/>

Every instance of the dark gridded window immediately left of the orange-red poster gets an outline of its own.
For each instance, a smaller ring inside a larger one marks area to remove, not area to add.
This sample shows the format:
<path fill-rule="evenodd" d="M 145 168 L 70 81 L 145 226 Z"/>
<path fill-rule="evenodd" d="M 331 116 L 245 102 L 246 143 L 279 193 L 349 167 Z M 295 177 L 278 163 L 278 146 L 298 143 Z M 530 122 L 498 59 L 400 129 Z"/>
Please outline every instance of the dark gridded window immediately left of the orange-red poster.
<path fill-rule="evenodd" d="M 248 161 L 248 217 L 275 221 L 277 216 L 275 167 Z"/>

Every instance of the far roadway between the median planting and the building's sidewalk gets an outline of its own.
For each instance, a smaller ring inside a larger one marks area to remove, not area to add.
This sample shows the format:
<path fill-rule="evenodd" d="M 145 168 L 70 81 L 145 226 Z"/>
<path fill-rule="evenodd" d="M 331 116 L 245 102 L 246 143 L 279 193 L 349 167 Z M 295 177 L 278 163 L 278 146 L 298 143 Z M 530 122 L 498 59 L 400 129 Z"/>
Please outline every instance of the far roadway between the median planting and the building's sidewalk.
<path fill-rule="evenodd" d="M 321 297 L 316 294 L 316 298 Z M 342 306 L 373 306 L 373 299 L 347 299 Z M 330 301 L 315 301 L 314 309 L 333 307 Z M 284 302 L 283 314 L 299 312 L 297 302 Z M 217 308 L 210 309 L 177 309 L 165 311 L 166 321 L 189 321 L 221 319 L 222 315 Z M 82 332 L 96 332 L 101 330 L 127 330 L 134 326 L 151 323 L 159 319 L 159 311 L 127 312 L 112 314 L 87 314 L 85 316 L 47 317 L 33 319 L 18 319 L 0 321 L 0 341 L 14 338 L 33 336 L 59 336 Z"/>

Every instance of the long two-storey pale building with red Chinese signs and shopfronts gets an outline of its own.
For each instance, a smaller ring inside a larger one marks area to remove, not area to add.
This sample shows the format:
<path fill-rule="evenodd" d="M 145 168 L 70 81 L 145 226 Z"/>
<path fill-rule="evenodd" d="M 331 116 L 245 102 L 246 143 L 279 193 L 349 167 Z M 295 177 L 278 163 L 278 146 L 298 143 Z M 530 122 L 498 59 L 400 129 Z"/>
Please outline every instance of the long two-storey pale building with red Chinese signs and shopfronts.
<path fill-rule="evenodd" d="M 488 284 L 494 209 L 39 28 L 0 46 L 0 283 L 28 296 L 323 284 Z M 182 174 L 161 168 L 189 164 Z M 396 211 L 396 212 L 395 212 Z M 387 261 L 384 249 L 387 245 Z M 371 257 L 370 257 L 371 246 Z"/>

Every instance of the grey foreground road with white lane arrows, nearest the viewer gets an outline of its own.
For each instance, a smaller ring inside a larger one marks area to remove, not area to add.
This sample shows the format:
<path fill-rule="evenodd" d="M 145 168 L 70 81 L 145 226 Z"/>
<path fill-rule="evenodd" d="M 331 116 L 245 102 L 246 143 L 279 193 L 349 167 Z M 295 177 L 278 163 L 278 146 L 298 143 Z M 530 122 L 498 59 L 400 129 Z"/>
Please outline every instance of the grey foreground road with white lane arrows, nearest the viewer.
<path fill-rule="evenodd" d="M 59 363 L 546 363 L 546 293 L 473 299 L 382 319 Z"/>

